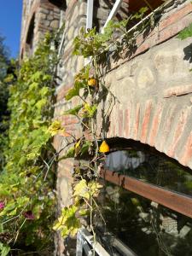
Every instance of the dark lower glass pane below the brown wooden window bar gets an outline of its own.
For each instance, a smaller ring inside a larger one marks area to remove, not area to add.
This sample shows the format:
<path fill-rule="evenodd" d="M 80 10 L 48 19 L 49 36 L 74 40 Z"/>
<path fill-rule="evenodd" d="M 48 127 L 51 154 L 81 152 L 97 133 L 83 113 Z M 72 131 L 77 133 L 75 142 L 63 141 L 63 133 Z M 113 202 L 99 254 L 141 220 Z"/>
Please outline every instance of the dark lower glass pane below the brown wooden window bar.
<path fill-rule="evenodd" d="M 100 198 L 102 217 L 97 236 L 110 255 L 117 253 L 104 239 L 112 234 L 138 256 L 191 256 L 192 219 L 131 193 L 113 183 L 103 187 Z"/>

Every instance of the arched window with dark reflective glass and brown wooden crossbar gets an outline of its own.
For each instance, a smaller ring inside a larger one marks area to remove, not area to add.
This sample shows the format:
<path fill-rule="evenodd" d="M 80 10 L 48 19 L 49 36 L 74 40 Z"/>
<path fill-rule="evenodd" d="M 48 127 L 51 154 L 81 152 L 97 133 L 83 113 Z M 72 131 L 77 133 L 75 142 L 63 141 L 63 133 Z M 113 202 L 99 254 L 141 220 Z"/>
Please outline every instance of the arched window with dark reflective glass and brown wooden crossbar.
<path fill-rule="evenodd" d="M 191 170 L 142 143 L 109 145 L 99 199 L 106 227 L 96 220 L 102 246 L 109 255 L 192 255 Z"/>

